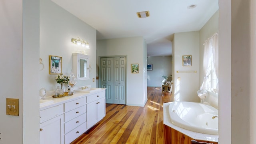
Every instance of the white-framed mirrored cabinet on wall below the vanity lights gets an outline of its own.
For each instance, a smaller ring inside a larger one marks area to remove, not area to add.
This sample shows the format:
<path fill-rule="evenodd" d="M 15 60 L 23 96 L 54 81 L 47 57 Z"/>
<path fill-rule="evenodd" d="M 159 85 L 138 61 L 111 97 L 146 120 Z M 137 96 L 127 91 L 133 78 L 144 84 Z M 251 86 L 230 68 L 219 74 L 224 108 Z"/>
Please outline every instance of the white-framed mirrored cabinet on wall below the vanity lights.
<path fill-rule="evenodd" d="M 89 56 L 85 54 L 73 53 L 73 71 L 78 80 L 90 79 Z"/>

